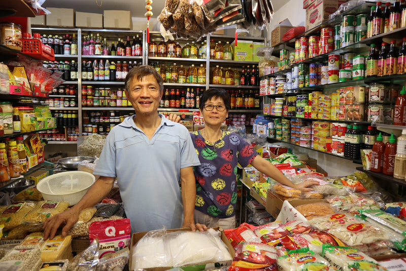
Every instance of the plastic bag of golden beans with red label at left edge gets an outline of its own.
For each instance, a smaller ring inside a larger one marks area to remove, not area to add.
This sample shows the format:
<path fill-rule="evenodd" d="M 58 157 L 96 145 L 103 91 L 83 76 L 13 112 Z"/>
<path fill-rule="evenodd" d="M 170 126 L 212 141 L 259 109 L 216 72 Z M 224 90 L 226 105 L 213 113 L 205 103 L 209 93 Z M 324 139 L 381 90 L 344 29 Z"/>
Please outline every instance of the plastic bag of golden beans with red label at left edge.
<path fill-rule="evenodd" d="M 21 225 L 25 216 L 36 206 L 33 201 L 16 202 L 9 205 L 0 214 L 0 224 L 4 224 L 3 230 L 10 230 Z"/>

